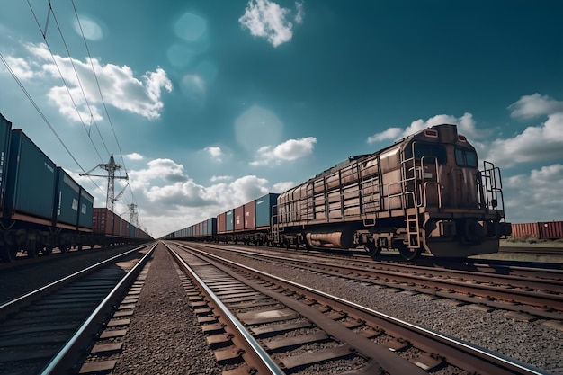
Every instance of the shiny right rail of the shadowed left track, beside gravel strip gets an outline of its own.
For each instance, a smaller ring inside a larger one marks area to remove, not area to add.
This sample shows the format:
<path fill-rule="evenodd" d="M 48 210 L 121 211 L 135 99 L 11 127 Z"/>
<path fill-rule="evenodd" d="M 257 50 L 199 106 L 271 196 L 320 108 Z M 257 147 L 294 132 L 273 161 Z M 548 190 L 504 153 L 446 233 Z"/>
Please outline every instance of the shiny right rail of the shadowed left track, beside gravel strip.
<path fill-rule="evenodd" d="M 76 329 L 75 334 L 67 340 L 67 343 L 58 351 L 55 357 L 53 357 L 39 372 L 40 375 L 65 373 L 69 368 L 76 364 L 77 357 L 82 354 L 76 353 L 76 347 L 91 340 L 90 335 L 93 335 L 97 330 L 97 326 L 99 326 L 103 314 L 105 314 L 109 308 L 112 308 L 113 302 L 121 296 L 121 292 L 129 288 L 130 281 L 134 281 L 139 272 L 143 269 L 145 263 L 147 263 L 148 259 L 152 256 L 156 245 L 157 243 L 153 244 L 147 254 L 143 256 L 133 268 L 131 268 L 130 272 L 127 272 L 121 281 L 112 289 L 110 294 L 103 299 L 97 308 L 95 308 L 94 312 L 86 318 L 85 322 L 78 327 L 78 329 Z M 139 246 L 135 250 L 131 250 L 126 254 L 135 252 L 142 247 L 147 246 Z M 114 256 L 111 260 L 117 260 L 117 258 L 122 255 Z M 103 263 L 107 262 L 109 262 L 109 260 Z"/>

